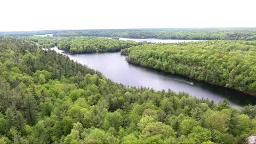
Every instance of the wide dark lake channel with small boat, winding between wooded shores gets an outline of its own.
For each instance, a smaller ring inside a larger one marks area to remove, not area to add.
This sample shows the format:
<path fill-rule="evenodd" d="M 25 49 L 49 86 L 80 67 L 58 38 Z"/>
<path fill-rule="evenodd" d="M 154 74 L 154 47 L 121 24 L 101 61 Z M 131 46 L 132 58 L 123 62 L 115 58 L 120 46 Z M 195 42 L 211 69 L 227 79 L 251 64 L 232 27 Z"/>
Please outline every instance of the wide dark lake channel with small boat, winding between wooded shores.
<path fill-rule="evenodd" d="M 120 55 L 120 52 L 71 55 L 58 50 L 57 47 L 53 49 L 69 56 L 74 61 L 101 71 L 104 76 L 126 86 L 143 86 L 159 91 L 170 88 L 174 92 L 187 92 L 197 98 L 214 100 L 215 103 L 227 100 L 232 106 L 237 107 L 247 104 L 255 105 L 256 98 L 253 96 L 187 77 L 131 64 L 125 61 L 125 56 Z M 193 82 L 194 85 L 190 85 L 190 82 Z"/>

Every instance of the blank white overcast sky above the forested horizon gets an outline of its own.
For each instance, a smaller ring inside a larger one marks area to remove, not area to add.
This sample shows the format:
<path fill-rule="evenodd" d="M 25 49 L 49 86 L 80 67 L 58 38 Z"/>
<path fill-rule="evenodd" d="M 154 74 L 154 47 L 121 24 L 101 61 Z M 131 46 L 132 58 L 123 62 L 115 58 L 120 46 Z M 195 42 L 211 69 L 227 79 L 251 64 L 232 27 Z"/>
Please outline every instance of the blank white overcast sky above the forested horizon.
<path fill-rule="evenodd" d="M 256 0 L 1 0 L 0 31 L 256 27 Z"/>

